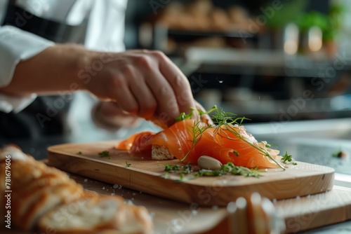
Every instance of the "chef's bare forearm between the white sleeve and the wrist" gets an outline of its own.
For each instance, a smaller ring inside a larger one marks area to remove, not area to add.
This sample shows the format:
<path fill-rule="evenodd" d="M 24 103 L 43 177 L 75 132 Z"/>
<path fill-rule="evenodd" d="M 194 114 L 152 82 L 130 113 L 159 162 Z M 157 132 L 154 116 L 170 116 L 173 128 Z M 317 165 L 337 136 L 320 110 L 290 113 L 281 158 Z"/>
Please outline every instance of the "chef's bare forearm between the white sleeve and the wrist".
<path fill-rule="evenodd" d="M 8 95 L 27 96 L 55 94 L 58 91 L 83 90 L 84 83 L 78 77 L 84 64 L 88 64 L 89 52 L 76 45 L 56 45 L 18 63 L 12 81 L 0 92 Z"/>

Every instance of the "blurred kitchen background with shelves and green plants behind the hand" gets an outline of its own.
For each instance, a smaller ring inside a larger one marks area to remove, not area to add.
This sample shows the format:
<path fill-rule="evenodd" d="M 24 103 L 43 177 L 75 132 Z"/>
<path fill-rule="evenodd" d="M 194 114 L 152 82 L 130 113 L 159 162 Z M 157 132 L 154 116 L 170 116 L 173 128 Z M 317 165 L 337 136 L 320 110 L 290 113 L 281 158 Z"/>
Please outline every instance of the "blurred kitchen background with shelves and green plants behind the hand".
<path fill-rule="evenodd" d="M 206 108 L 216 104 L 254 123 L 350 117 L 350 7 L 129 0 L 125 43 L 164 51 Z"/>

